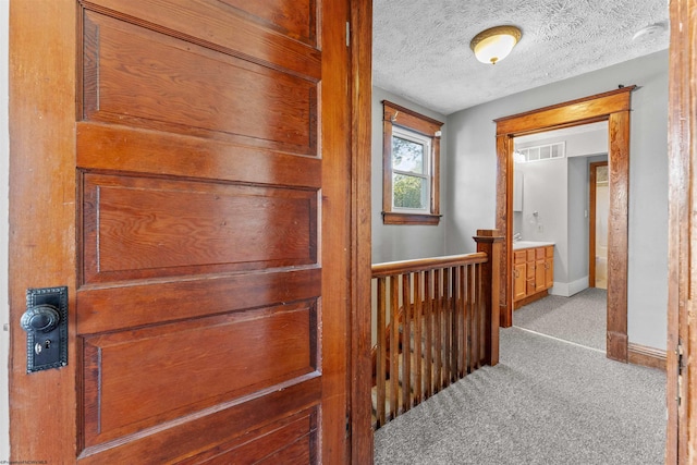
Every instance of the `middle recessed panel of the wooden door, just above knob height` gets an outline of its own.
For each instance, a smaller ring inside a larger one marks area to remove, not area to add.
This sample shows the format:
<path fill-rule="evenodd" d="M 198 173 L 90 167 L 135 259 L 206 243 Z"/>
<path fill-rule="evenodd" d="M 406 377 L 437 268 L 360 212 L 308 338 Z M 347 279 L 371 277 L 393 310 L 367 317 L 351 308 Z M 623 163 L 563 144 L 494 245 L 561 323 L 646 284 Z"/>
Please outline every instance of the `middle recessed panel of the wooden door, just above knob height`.
<path fill-rule="evenodd" d="M 317 262 L 313 191 L 86 173 L 83 205 L 86 284 Z"/>

